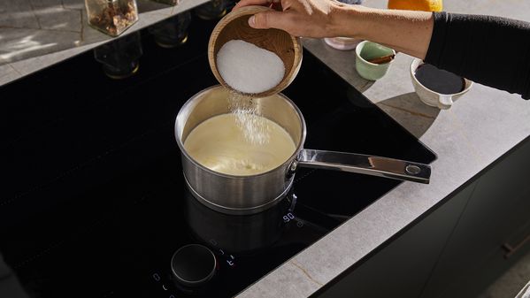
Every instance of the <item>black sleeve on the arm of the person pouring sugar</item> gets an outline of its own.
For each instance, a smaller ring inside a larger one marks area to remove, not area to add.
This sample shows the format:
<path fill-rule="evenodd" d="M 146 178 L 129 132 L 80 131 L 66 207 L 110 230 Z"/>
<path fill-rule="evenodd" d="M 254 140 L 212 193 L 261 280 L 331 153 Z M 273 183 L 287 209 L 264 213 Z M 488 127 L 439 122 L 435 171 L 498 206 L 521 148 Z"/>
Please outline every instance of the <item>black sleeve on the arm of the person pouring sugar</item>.
<path fill-rule="evenodd" d="M 434 12 L 426 63 L 530 98 L 530 23 Z"/>

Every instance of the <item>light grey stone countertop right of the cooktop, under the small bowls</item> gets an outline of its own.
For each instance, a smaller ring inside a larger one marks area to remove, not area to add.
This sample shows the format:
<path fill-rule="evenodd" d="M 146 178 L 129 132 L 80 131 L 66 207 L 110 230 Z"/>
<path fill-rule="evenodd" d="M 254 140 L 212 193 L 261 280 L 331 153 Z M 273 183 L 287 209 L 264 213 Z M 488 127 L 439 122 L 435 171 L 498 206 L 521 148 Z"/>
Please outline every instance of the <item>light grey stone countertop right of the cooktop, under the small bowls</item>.
<path fill-rule="evenodd" d="M 386 3 L 365 0 L 373 7 Z M 530 21 L 530 2 L 524 0 L 445 0 L 444 9 Z M 421 103 L 414 93 L 412 57 L 398 54 L 387 75 L 372 82 L 356 73 L 354 51 L 334 50 L 321 40 L 304 40 L 303 44 L 433 149 L 438 159 L 432 164 L 429 185 L 403 182 L 240 297 L 309 296 L 530 135 L 530 102 L 518 95 L 475 84 L 449 110 L 440 111 Z"/>

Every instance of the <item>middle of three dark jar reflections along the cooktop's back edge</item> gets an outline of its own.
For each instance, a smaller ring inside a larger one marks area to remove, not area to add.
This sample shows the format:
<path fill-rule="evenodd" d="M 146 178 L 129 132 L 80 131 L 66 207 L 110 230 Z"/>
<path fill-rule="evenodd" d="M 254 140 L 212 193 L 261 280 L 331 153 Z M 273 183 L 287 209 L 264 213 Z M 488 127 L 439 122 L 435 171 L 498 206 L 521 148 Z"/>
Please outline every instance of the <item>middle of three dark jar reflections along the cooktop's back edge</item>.
<path fill-rule="evenodd" d="M 176 48 L 188 41 L 191 13 L 184 11 L 176 16 L 151 25 L 148 30 L 155 42 L 163 48 Z"/>

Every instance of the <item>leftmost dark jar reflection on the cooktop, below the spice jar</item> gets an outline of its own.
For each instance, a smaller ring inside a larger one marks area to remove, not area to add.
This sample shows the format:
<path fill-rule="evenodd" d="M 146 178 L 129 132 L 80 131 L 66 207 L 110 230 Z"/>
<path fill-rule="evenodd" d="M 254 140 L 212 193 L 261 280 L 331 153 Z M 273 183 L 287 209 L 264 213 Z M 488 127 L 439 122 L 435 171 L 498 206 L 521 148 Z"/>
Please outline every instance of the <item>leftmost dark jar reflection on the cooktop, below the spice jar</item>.
<path fill-rule="evenodd" d="M 128 78 L 138 72 L 139 59 L 142 54 L 142 40 L 139 32 L 127 34 L 94 50 L 94 57 L 103 65 L 104 73 L 116 80 Z"/>

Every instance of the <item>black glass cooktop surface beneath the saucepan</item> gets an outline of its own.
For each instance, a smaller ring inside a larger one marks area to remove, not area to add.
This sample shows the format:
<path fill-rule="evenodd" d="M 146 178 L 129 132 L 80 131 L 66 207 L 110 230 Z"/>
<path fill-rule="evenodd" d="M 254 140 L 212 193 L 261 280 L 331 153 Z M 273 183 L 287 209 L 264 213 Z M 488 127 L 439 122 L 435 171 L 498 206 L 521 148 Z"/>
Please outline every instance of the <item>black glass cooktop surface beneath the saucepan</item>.
<path fill-rule="evenodd" d="M 302 170 L 265 212 L 229 216 L 196 202 L 173 123 L 188 98 L 217 84 L 206 56 L 215 23 L 192 15 L 188 41 L 176 48 L 159 46 L 150 29 L 114 42 L 123 50 L 98 48 L 99 61 L 138 59 L 126 79 L 106 76 L 91 50 L 0 87 L 1 297 L 232 296 L 400 183 Z M 303 55 L 284 94 L 303 112 L 306 148 L 434 160 Z"/>

